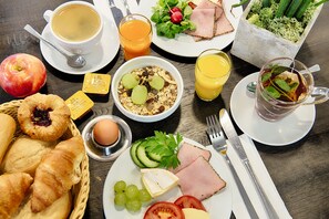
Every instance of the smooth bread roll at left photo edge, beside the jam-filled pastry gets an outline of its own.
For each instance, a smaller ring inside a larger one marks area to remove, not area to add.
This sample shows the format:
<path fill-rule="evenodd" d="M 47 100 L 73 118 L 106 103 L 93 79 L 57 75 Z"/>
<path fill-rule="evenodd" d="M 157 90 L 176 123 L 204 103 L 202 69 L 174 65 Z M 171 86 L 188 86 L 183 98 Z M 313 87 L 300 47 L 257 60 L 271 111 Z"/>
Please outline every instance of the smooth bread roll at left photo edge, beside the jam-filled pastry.
<path fill-rule="evenodd" d="M 7 152 L 7 148 L 12 140 L 13 134 L 16 132 L 14 119 L 4 113 L 0 113 L 0 164 Z"/>

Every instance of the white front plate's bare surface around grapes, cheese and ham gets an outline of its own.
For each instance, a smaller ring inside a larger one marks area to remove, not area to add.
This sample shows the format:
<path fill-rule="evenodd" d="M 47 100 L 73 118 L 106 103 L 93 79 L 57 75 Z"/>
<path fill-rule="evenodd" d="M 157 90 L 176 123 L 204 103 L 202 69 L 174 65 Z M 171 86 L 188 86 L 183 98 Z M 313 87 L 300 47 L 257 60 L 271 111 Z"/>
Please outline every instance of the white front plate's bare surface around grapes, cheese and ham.
<path fill-rule="evenodd" d="M 204 147 L 201 144 L 184 138 L 189 144 L 196 145 L 198 147 Z M 230 189 L 230 178 L 229 169 L 225 159 L 216 153 L 212 147 L 207 147 L 212 153 L 212 158 L 209 164 L 217 171 L 217 174 L 226 181 L 226 187 L 212 196 L 210 198 L 203 201 L 203 205 L 210 213 L 210 218 L 223 218 L 228 219 L 232 213 L 232 189 Z M 151 205 L 143 206 L 141 211 L 136 213 L 128 212 L 126 209 L 119 209 L 114 205 L 114 184 L 119 180 L 125 180 L 127 184 L 135 184 L 138 188 L 142 188 L 141 171 L 140 168 L 134 165 L 131 159 L 130 148 L 127 148 L 115 163 L 112 165 L 106 180 L 104 182 L 103 189 L 103 209 L 106 218 L 130 218 L 130 219 L 141 219 L 143 218 L 147 207 Z M 175 201 L 176 198 L 182 196 L 178 187 L 175 187 L 167 194 L 153 199 L 152 204 L 155 201 L 166 200 Z"/>

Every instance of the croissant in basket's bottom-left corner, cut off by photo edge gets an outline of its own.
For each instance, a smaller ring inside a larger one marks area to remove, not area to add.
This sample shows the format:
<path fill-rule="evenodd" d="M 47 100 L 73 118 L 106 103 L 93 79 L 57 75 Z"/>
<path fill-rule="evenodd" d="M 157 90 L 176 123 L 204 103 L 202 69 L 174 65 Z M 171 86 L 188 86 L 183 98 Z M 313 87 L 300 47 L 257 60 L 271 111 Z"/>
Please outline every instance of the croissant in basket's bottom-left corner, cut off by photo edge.
<path fill-rule="evenodd" d="M 0 219 L 10 218 L 18 210 L 32 181 L 24 173 L 0 176 Z"/>

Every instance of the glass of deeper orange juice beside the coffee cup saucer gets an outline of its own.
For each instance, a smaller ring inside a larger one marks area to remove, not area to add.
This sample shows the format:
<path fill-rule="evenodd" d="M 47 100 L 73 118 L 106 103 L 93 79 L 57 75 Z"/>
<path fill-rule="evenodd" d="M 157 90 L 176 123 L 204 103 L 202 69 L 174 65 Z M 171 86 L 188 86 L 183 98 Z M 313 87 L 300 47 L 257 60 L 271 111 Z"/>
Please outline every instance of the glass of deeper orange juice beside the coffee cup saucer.
<path fill-rule="evenodd" d="M 152 25 L 146 17 L 137 13 L 124 17 L 119 33 L 125 60 L 150 54 Z"/>

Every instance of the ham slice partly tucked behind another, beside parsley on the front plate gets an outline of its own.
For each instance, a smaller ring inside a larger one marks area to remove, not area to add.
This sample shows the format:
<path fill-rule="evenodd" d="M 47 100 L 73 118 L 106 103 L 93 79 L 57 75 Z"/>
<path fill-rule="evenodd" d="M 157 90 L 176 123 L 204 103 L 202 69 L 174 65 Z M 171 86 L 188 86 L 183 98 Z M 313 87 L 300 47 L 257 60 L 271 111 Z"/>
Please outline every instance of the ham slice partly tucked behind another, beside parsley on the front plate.
<path fill-rule="evenodd" d="M 212 153 L 207 149 L 203 149 L 184 142 L 177 154 L 181 165 L 172 171 L 174 174 L 179 171 L 181 169 L 187 167 L 189 164 L 196 160 L 199 156 L 204 157 L 206 160 L 209 160 Z"/>

